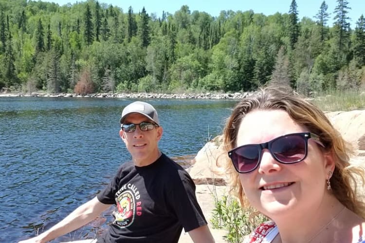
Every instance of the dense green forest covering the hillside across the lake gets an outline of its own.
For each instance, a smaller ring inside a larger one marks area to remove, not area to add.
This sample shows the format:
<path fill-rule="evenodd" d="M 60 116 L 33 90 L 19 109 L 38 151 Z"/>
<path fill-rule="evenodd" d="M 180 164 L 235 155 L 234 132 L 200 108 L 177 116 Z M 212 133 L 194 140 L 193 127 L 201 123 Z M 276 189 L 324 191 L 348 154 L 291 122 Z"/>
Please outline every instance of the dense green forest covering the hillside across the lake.
<path fill-rule="evenodd" d="M 333 6 L 332 6 L 333 7 Z M 163 9 L 163 6 L 161 6 Z M 162 16 L 95 0 L 59 6 L 0 0 L 0 89 L 13 92 L 236 92 L 268 83 L 298 92 L 365 89 L 365 19 L 349 2 L 313 17 L 183 5 Z M 331 27 L 329 27 L 331 25 Z"/>

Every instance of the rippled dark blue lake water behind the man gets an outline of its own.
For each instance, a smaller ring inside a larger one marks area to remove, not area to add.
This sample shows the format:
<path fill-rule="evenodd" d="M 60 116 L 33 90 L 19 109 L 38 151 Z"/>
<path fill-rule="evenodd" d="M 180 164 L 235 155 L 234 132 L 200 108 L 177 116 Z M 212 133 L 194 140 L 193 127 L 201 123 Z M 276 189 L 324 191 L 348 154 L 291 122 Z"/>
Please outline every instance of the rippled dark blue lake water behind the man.
<path fill-rule="evenodd" d="M 122 108 L 132 100 L 0 98 L 0 242 L 50 228 L 103 189 L 130 160 L 119 137 Z M 160 149 L 191 156 L 222 133 L 232 100 L 144 100 L 164 127 Z M 54 242 L 93 238 L 110 212 Z"/>

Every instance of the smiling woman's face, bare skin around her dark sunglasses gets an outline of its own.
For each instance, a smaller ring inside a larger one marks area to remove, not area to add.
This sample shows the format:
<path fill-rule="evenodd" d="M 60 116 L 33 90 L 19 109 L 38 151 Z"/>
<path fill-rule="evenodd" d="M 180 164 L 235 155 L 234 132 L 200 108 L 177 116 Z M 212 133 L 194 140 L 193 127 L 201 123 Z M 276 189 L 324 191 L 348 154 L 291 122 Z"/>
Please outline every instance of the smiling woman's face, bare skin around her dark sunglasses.
<path fill-rule="evenodd" d="M 293 121 L 283 110 L 254 110 L 239 126 L 237 147 L 300 132 L 309 130 Z M 319 208 L 329 196 L 326 180 L 333 168 L 329 156 L 309 139 L 308 155 L 303 161 L 282 164 L 264 149 L 258 167 L 250 173 L 239 174 L 239 178 L 250 203 L 274 219 L 298 210 L 305 212 Z"/>

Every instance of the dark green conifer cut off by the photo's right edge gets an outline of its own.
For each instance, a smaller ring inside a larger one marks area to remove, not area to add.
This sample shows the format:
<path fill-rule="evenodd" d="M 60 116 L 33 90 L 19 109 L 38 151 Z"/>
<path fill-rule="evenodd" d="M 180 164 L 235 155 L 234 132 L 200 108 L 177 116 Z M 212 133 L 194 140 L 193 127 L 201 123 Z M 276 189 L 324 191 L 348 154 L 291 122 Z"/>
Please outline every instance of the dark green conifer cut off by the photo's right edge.
<path fill-rule="evenodd" d="M 354 40 L 353 40 L 353 56 L 356 60 L 358 68 L 365 65 L 365 18 L 361 15 L 356 22 Z"/>

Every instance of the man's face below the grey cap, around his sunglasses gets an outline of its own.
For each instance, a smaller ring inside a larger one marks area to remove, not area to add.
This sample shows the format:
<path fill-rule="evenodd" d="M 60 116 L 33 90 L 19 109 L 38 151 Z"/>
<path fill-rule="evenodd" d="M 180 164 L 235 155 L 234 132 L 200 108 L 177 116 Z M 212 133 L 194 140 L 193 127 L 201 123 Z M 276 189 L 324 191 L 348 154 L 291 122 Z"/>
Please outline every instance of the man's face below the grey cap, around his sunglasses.
<path fill-rule="evenodd" d="M 153 122 L 144 115 L 139 113 L 131 113 L 124 120 L 124 124 L 134 123 L 139 124 L 141 122 Z M 132 156 L 133 162 L 137 166 L 146 166 L 160 156 L 158 149 L 158 141 L 161 139 L 163 129 L 161 126 L 154 127 L 150 131 L 141 131 L 139 125 L 136 126 L 136 130 L 131 133 L 126 133 L 122 129 L 119 131 L 119 135 L 127 146 L 129 153 Z"/>

